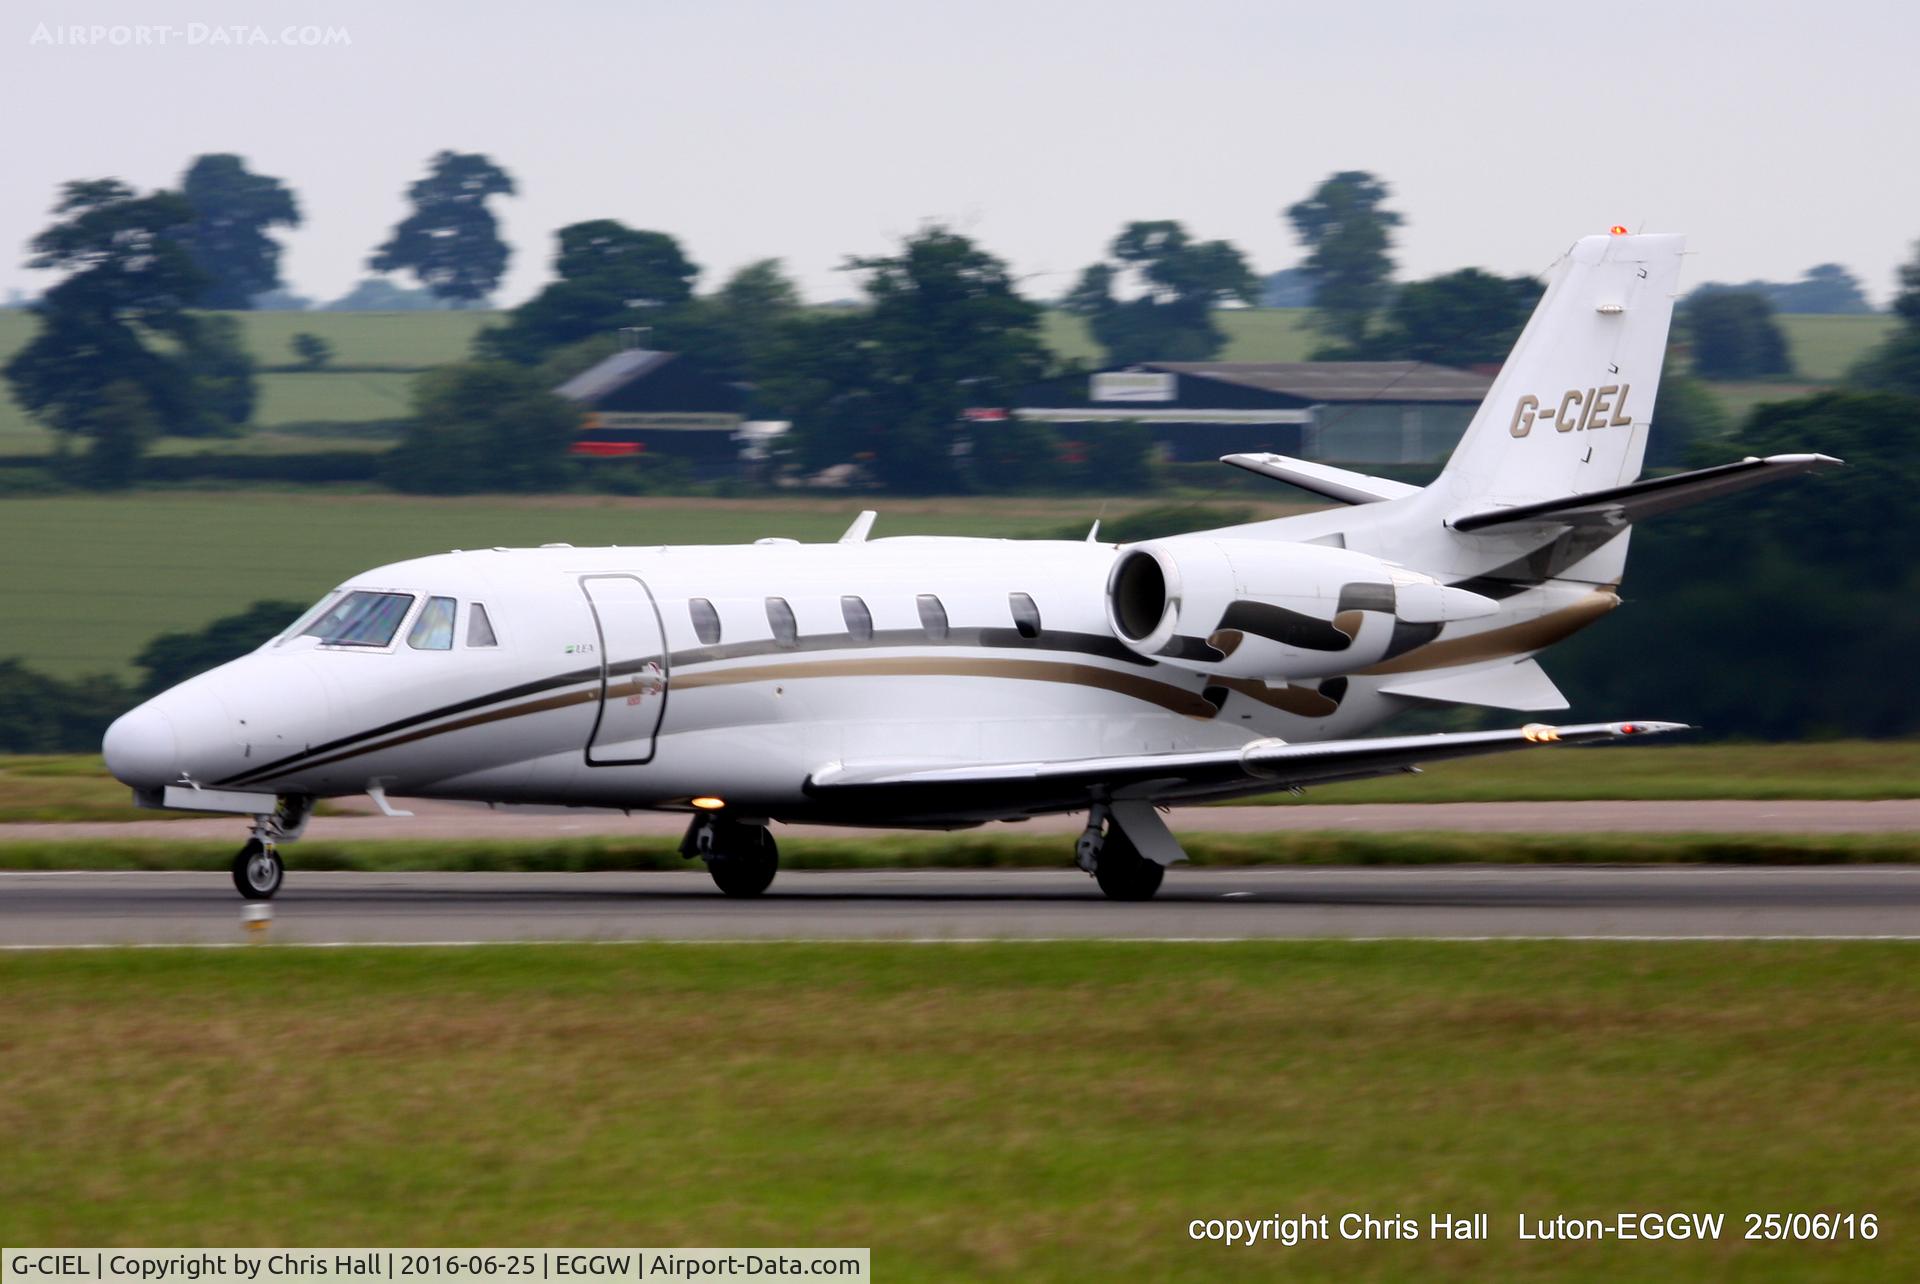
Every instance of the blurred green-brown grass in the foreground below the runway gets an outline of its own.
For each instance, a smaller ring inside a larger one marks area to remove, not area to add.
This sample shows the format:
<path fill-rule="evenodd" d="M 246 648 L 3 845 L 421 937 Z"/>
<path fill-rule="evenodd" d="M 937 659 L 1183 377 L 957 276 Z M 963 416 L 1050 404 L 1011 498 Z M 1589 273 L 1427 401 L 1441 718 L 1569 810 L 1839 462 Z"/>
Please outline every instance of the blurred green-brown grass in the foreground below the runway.
<path fill-rule="evenodd" d="M 887 1280 L 1910 1280 L 1914 948 L 13 954 L 0 1238 L 831 1244 Z M 1515 1234 L 1640 1209 L 1730 1232 Z M 1484 1211 L 1492 1236 L 1188 1236 L 1346 1211 Z M 1880 1234 L 1743 1242 L 1749 1211 Z"/>

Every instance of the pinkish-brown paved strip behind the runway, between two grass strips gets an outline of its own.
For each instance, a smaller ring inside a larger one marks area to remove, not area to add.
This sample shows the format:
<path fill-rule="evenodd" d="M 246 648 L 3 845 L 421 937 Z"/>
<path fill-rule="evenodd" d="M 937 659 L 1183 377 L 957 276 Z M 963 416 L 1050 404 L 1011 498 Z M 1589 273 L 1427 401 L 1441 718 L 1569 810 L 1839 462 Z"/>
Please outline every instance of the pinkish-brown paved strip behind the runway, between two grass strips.
<path fill-rule="evenodd" d="M 334 806 L 372 808 L 363 798 Z M 319 816 L 309 839 L 586 839 L 659 837 L 678 841 L 685 816 L 603 812 L 593 808 L 499 808 L 470 802 L 403 802 L 413 816 Z M 131 812 L 129 816 L 140 816 Z M 979 833 L 1077 835 L 1085 814 L 1039 816 L 1018 827 Z M 1469 833 L 1920 833 L 1920 798 L 1882 802 L 1371 802 L 1279 806 L 1187 806 L 1169 816 L 1175 833 L 1284 833 L 1294 829 L 1461 829 Z M 246 839 L 238 816 L 207 820 L 129 820 L 88 823 L 0 825 L 0 841 L 177 839 L 230 844 Z M 872 829 L 828 825 L 780 827 L 781 837 L 872 837 Z M 1062 843 L 1069 848 L 1071 837 Z M 288 848 L 298 864 L 298 848 Z"/>

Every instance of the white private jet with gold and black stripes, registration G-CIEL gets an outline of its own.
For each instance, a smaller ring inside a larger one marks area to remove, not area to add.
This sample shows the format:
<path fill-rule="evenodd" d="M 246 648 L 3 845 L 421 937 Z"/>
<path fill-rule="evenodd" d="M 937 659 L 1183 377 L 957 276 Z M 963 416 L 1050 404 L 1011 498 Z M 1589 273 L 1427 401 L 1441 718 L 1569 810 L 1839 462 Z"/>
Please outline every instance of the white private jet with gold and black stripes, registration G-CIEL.
<path fill-rule="evenodd" d="M 1169 806 L 1674 731 L 1363 735 L 1567 708 L 1536 656 L 1619 605 L 1634 522 L 1839 463 L 1636 480 L 1682 244 L 1578 240 L 1425 487 L 1229 455 L 1332 507 L 1140 543 L 874 539 L 862 512 L 837 543 L 420 557 L 131 710 L 106 762 L 140 806 L 252 818 L 253 900 L 344 795 L 682 812 L 730 896 L 774 881 L 772 821 L 1085 812 L 1075 864 L 1146 900 L 1183 858 Z"/>

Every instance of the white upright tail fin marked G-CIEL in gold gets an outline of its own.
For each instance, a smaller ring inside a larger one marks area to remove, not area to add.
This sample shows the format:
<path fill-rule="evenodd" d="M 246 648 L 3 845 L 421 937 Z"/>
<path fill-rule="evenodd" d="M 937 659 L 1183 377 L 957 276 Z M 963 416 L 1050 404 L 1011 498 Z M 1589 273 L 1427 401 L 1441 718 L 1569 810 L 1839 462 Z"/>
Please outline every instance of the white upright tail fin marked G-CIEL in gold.
<path fill-rule="evenodd" d="M 1521 505 L 1640 476 L 1684 236 L 1586 236 L 1430 487 L 1453 505 Z"/>

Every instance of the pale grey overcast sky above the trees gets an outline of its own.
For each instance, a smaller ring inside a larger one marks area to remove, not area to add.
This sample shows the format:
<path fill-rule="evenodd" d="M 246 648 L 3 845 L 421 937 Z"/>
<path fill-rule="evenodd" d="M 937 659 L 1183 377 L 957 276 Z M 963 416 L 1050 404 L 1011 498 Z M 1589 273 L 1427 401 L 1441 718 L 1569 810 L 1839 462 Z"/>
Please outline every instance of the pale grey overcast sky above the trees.
<path fill-rule="evenodd" d="M 167 31 L 65 31 L 113 23 Z M 1538 273 L 1624 223 L 1688 232 L 1690 282 L 1839 261 L 1884 301 L 1920 238 L 1916 52 L 1912 0 L 15 0 L 0 296 L 44 286 L 21 259 L 60 182 L 238 152 L 300 198 L 288 282 L 334 297 L 455 148 L 520 186 L 505 301 L 599 217 L 676 234 L 703 286 L 781 257 L 816 299 L 929 219 L 1035 297 L 1131 219 L 1273 271 L 1300 257 L 1279 211 L 1340 169 L 1392 186 L 1402 276 Z"/>

